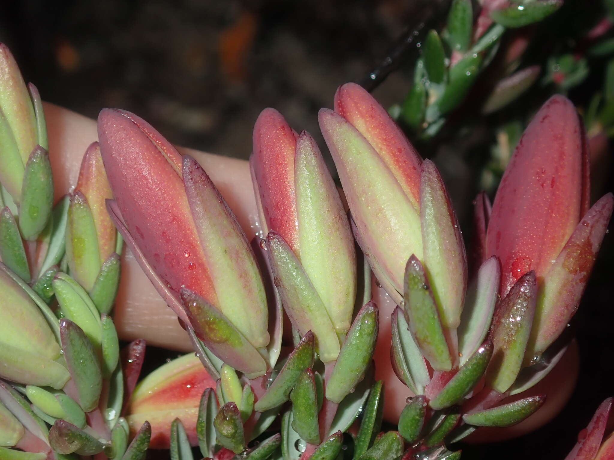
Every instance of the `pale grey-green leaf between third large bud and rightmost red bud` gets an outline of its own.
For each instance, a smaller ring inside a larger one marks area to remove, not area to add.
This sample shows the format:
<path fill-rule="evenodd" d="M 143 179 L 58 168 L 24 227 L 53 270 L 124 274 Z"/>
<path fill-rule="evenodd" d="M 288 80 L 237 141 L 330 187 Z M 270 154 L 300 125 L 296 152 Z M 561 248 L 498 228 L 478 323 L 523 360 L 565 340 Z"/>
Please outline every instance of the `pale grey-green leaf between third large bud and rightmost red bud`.
<path fill-rule="evenodd" d="M 491 327 L 499 294 L 501 269 L 495 256 L 485 261 L 467 289 L 465 306 L 458 328 L 461 366 L 480 348 Z"/>

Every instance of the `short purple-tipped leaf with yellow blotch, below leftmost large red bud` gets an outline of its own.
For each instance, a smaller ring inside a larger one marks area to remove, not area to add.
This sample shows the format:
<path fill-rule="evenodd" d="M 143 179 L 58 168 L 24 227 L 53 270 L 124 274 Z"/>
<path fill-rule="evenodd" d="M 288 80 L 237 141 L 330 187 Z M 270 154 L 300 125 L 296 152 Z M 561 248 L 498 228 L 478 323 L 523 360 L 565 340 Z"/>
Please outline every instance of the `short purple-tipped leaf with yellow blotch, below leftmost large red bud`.
<path fill-rule="evenodd" d="M 248 378 L 265 374 L 260 353 L 219 310 L 187 288 L 181 289 L 181 297 L 196 335 L 209 350 Z"/>

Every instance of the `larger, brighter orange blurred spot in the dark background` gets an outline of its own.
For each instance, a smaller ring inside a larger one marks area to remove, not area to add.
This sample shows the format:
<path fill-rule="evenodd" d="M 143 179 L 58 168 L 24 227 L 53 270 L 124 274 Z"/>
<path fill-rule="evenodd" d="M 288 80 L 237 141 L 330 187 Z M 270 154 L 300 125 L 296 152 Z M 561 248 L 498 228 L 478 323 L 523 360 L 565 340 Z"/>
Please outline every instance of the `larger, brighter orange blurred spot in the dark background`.
<path fill-rule="evenodd" d="M 220 67 L 222 72 L 235 82 L 245 79 L 247 53 L 254 42 L 257 25 L 254 14 L 243 12 L 238 20 L 220 35 Z"/>

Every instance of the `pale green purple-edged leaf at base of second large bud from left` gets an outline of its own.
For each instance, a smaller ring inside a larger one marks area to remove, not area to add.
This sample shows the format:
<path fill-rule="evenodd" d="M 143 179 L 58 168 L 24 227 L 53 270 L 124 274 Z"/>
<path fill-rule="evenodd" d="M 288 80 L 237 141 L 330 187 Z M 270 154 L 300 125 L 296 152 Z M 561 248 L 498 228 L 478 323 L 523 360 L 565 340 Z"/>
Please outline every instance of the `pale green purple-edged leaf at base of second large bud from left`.
<path fill-rule="evenodd" d="M 300 261 L 283 237 L 276 232 L 269 232 L 266 246 L 273 269 L 273 280 L 290 321 L 301 334 L 306 334 L 307 331 L 314 333 L 317 353 L 322 362 L 333 361 L 339 355 L 339 339 L 326 308 Z"/>

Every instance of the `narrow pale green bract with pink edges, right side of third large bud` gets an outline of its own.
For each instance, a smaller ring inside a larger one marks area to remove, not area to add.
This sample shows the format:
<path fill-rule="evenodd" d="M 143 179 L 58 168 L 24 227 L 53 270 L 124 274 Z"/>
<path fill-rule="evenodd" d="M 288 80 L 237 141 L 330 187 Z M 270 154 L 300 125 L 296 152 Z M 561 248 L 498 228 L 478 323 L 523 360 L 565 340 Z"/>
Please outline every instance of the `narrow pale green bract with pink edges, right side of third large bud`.
<path fill-rule="evenodd" d="M 467 256 L 452 203 L 437 167 L 422 163 L 420 220 L 424 267 L 438 305 L 441 325 L 455 329 L 467 289 Z"/>

